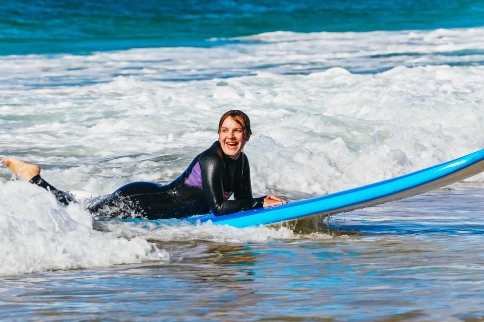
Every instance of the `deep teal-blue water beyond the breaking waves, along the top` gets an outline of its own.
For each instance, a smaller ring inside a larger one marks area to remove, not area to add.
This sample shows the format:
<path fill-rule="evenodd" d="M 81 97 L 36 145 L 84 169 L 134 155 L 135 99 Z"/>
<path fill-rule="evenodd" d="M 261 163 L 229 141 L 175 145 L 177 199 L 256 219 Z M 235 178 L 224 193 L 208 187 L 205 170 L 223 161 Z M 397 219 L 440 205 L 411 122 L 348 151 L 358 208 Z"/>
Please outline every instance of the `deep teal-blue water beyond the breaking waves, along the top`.
<path fill-rule="evenodd" d="M 0 54 L 208 47 L 278 30 L 474 27 L 483 17 L 478 0 L 2 0 Z"/>

